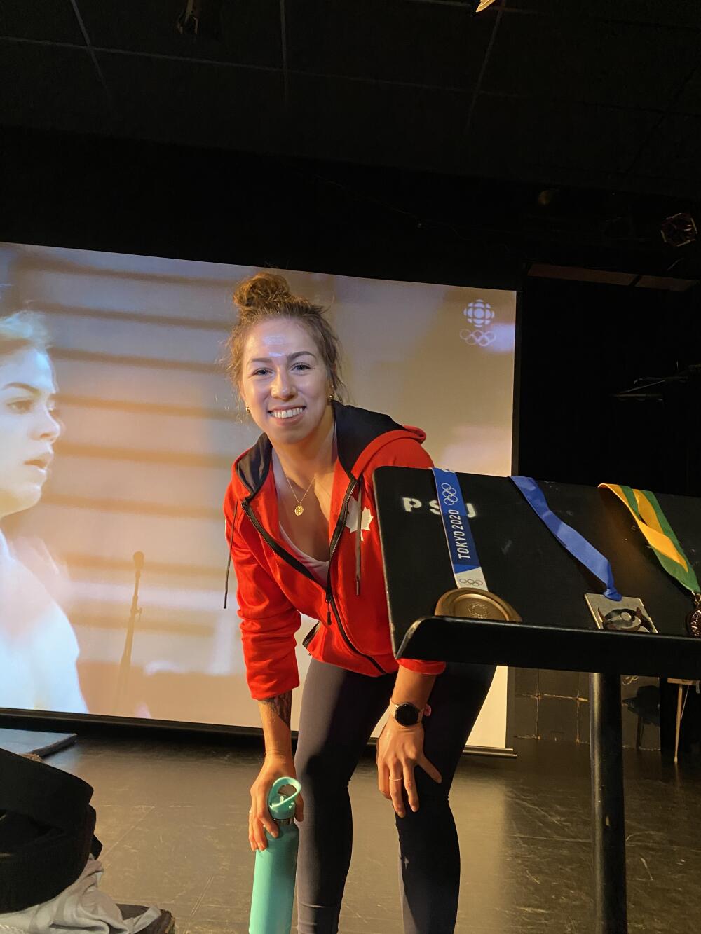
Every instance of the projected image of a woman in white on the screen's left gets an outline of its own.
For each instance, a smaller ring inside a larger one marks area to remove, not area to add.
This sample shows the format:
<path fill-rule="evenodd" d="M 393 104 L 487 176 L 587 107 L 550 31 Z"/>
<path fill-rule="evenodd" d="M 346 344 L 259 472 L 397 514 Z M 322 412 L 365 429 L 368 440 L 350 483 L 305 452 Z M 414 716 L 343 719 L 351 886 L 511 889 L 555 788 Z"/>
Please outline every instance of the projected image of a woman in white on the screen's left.
<path fill-rule="evenodd" d="M 2 525 L 41 499 L 61 433 L 55 393 L 40 321 L 28 313 L 0 318 L 0 707 L 82 713 L 75 633 Z M 33 563 L 55 576 L 41 550 L 35 545 Z"/>

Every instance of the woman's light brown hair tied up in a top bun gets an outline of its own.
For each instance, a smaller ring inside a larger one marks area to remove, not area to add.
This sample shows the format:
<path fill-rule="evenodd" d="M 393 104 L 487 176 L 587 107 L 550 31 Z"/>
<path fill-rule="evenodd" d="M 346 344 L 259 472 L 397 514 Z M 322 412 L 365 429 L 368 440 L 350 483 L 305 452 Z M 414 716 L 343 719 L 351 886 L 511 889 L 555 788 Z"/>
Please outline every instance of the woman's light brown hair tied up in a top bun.
<path fill-rule="evenodd" d="M 308 332 L 319 349 L 335 395 L 346 394 L 341 378 L 340 345 L 336 332 L 326 318 L 321 305 L 293 295 L 287 280 L 275 273 L 261 272 L 239 282 L 234 292 L 238 320 L 226 342 L 227 372 L 238 389 L 241 385 L 243 347 L 251 328 L 271 318 L 289 318 Z"/>

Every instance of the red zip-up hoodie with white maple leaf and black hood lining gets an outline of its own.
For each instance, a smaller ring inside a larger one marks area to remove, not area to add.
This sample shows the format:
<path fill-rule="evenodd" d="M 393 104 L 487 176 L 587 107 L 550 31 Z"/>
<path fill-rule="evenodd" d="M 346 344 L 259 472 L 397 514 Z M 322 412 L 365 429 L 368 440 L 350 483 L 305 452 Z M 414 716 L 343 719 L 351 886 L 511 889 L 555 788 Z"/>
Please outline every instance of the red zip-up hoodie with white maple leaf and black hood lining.
<path fill-rule="evenodd" d="M 289 551 L 279 531 L 278 495 L 266 434 L 239 457 L 224 499 L 226 537 L 236 570 L 241 641 L 256 701 L 299 684 L 294 633 L 304 613 L 319 622 L 309 654 L 351 672 L 378 676 L 398 664 L 439 674 L 443 662 L 401 659 L 390 641 L 372 474 L 376 467 L 431 467 L 425 433 L 389 416 L 334 404 L 338 460 L 329 516 L 326 586 Z"/>

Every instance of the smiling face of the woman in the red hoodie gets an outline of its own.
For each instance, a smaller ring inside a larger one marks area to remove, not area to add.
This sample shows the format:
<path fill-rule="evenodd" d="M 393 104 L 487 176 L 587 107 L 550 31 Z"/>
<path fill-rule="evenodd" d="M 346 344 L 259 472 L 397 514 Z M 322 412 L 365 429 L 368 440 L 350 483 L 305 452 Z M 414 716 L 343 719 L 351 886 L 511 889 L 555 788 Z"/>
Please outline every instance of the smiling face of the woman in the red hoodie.
<path fill-rule="evenodd" d="M 250 329 L 239 391 L 273 446 L 304 441 L 332 423 L 331 382 L 319 347 L 292 318 L 261 321 Z"/>

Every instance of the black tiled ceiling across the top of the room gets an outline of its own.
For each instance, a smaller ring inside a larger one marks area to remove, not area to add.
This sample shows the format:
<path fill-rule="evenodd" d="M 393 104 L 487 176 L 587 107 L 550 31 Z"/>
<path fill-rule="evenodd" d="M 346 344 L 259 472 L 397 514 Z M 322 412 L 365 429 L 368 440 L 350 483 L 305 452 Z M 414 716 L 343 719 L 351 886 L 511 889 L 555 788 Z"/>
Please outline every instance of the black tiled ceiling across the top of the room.
<path fill-rule="evenodd" d="M 0 0 L 0 122 L 696 198 L 697 0 Z"/>

